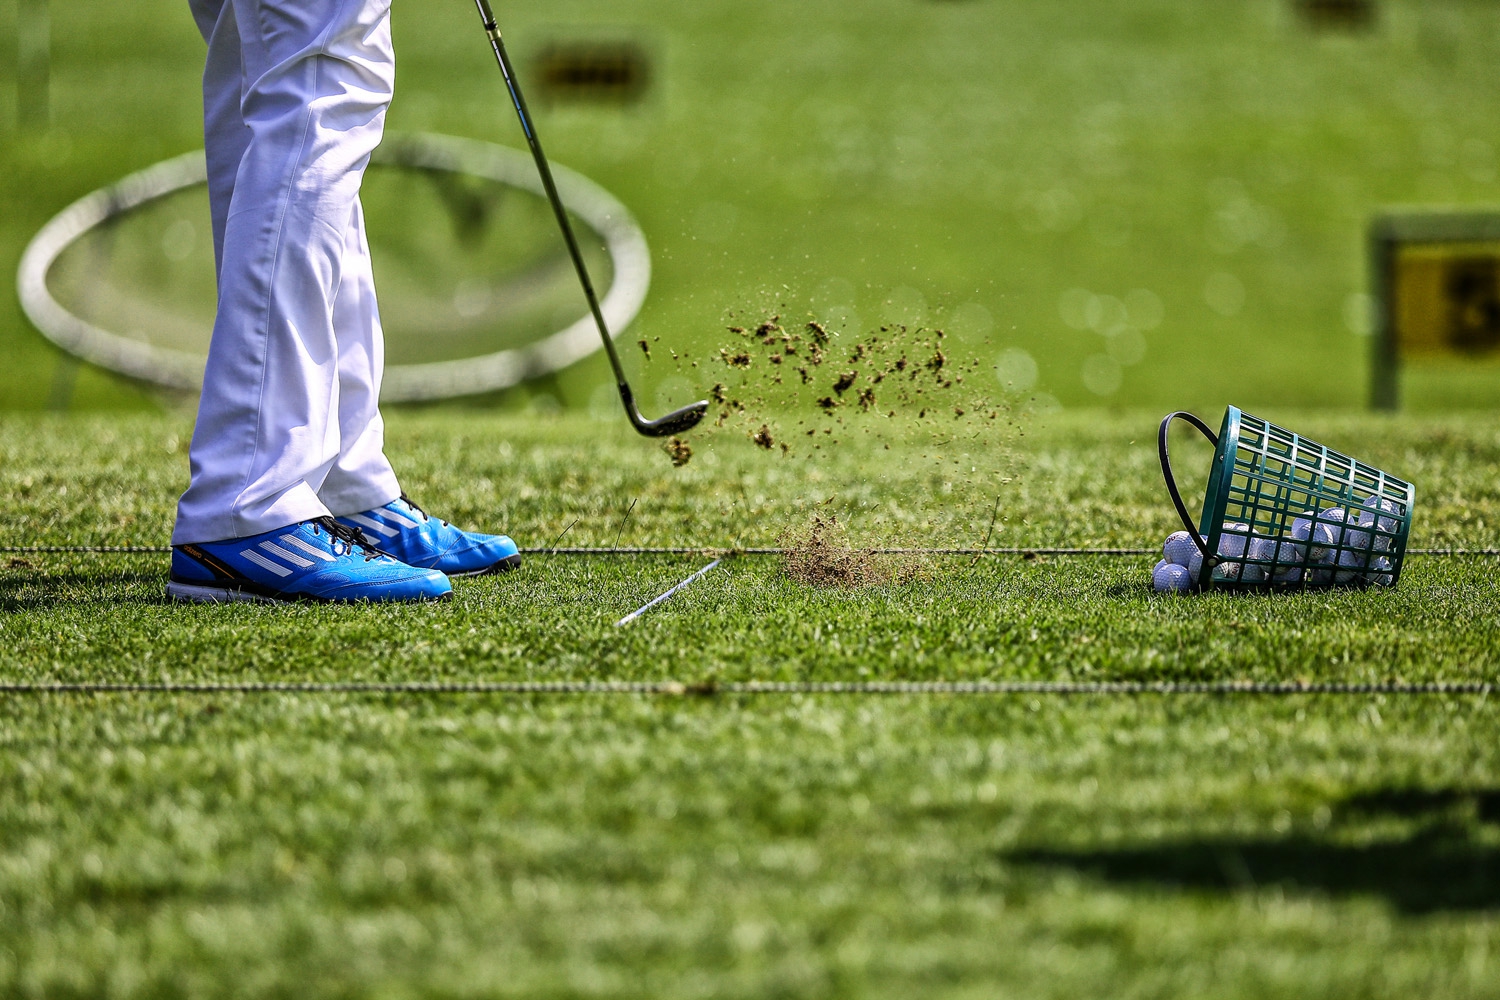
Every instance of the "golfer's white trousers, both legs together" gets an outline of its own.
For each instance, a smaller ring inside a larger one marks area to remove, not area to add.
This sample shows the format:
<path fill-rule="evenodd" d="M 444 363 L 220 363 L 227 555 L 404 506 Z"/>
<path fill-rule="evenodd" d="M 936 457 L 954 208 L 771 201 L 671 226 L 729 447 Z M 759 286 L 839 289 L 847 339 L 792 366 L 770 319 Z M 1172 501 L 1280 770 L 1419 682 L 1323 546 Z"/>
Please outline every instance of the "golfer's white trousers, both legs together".
<path fill-rule="evenodd" d="M 189 0 L 219 312 L 172 543 L 400 495 L 360 181 L 394 84 L 390 0 Z"/>

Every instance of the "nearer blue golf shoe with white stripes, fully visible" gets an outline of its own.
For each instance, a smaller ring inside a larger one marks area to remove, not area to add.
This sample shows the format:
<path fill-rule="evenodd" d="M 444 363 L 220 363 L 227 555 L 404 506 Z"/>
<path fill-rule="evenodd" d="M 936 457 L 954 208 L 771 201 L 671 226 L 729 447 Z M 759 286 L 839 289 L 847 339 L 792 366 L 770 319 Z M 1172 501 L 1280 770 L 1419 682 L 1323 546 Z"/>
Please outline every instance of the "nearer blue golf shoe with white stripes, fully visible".
<path fill-rule="evenodd" d="M 448 579 L 364 544 L 315 517 L 248 538 L 172 546 L 166 595 L 180 601 L 432 601 Z"/>

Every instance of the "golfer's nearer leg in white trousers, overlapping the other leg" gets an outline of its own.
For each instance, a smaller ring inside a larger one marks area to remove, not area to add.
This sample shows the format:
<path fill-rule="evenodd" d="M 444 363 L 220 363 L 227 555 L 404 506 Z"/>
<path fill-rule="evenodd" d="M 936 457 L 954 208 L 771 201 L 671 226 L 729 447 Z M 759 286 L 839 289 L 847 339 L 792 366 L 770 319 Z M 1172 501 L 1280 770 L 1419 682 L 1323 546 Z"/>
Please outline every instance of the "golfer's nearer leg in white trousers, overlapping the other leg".
<path fill-rule="evenodd" d="M 327 514 L 350 219 L 393 85 L 388 0 L 232 0 L 249 142 L 174 544 Z"/>

